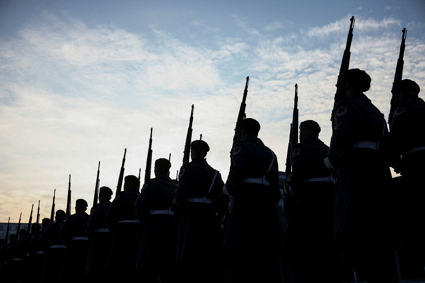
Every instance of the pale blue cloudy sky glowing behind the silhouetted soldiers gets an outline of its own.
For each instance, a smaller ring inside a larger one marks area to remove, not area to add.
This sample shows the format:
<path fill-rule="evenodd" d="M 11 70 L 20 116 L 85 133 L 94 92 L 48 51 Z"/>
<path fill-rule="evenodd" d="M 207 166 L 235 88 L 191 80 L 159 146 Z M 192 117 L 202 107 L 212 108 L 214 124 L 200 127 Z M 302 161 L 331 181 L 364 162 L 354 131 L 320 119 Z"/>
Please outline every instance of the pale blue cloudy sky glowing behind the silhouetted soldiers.
<path fill-rule="evenodd" d="M 351 16 L 350 68 L 388 119 L 403 28 L 403 78 L 424 87 L 423 0 L 0 0 L 0 222 L 28 223 L 32 204 L 34 222 L 39 200 L 50 217 L 55 189 L 65 210 L 70 174 L 71 212 L 90 209 L 99 161 L 115 192 L 125 149 L 124 176 L 143 182 L 150 128 L 152 164 L 171 154 L 176 178 L 192 104 L 192 140 L 225 181 L 247 76 L 246 117 L 285 171 L 295 84 L 299 121 L 330 143 Z"/>

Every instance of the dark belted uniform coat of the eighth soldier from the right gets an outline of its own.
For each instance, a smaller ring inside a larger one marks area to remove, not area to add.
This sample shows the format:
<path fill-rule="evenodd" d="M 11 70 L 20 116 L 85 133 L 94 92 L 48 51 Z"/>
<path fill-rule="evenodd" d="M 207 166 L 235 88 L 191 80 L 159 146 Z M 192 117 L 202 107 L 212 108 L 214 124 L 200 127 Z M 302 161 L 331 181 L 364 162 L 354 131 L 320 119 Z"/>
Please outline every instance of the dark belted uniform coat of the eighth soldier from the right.
<path fill-rule="evenodd" d="M 90 279 L 96 277 L 102 280 L 106 261 L 108 260 L 112 234 L 106 227 L 105 215 L 110 206 L 111 202 L 107 199 L 102 199 L 97 205 L 94 205 L 90 210 L 90 216 L 85 228 L 87 238 L 90 240 L 85 274 Z"/>

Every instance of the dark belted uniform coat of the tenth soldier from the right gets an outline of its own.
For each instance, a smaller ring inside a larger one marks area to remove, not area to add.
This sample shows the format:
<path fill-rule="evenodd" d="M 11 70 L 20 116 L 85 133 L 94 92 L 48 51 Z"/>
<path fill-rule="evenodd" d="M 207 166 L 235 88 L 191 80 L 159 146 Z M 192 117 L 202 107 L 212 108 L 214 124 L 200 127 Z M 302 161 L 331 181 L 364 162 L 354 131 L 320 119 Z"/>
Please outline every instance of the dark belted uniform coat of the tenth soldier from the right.
<path fill-rule="evenodd" d="M 63 222 L 63 220 L 56 220 L 48 225 L 38 239 L 38 244 L 42 247 L 46 256 L 41 279 L 42 283 L 59 282 L 60 269 L 62 268 L 66 251 L 66 245 L 59 238 L 59 230 Z"/>

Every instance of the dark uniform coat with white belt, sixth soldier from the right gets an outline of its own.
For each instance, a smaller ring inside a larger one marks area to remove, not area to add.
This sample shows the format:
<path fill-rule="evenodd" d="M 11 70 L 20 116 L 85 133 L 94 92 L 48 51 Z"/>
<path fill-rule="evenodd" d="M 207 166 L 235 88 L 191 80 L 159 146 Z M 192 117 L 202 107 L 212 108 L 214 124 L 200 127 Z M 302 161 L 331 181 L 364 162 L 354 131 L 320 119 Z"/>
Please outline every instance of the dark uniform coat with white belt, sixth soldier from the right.
<path fill-rule="evenodd" d="M 136 269 L 147 282 L 157 276 L 161 282 L 175 282 L 177 227 L 170 206 L 176 188 L 167 174 L 158 174 L 143 184 L 134 204 L 144 223 Z"/>

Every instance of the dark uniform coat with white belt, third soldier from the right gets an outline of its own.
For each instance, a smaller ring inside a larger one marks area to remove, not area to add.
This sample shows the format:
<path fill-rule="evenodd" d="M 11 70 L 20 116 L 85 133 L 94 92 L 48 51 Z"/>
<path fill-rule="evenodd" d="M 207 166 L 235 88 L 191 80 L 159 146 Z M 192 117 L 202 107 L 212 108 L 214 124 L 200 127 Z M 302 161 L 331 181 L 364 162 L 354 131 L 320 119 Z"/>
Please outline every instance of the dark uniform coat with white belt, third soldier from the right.
<path fill-rule="evenodd" d="M 301 128 L 301 126 L 300 126 Z M 332 231 L 335 182 L 323 160 L 329 152 L 318 137 L 309 137 L 292 152 L 291 189 L 298 198 L 286 230 L 283 253 L 300 282 L 332 282 Z M 333 262 L 334 262 L 333 261 Z"/>

